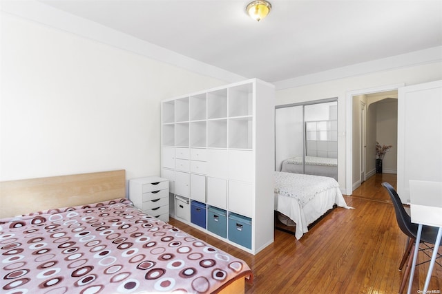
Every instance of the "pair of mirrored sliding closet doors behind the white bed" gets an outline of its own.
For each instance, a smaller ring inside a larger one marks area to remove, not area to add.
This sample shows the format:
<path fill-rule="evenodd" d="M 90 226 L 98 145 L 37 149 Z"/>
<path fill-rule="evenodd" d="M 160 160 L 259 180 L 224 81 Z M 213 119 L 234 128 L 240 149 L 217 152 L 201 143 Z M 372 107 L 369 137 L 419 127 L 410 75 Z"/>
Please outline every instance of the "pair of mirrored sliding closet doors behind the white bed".
<path fill-rule="evenodd" d="M 275 110 L 275 170 L 338 180 L 336 98 L 278 105 Z"/>

